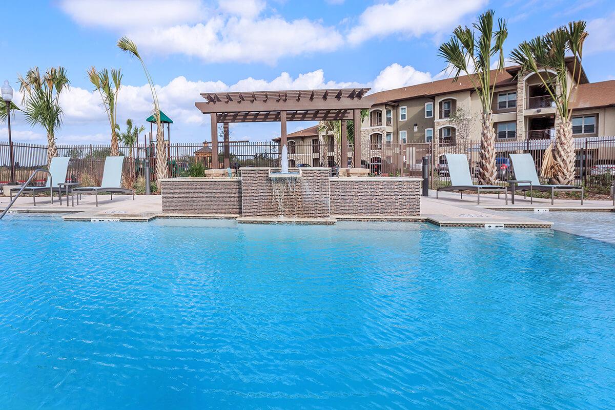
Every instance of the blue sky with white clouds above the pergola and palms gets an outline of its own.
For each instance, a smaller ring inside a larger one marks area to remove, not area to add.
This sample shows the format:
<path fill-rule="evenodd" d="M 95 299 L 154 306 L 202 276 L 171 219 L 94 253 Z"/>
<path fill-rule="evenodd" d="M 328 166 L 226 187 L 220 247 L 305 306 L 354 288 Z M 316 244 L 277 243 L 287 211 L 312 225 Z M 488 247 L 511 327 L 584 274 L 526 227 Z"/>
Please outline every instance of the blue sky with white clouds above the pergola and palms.
<path fill-rule="evenodd" d="M 587 20 L 589 79 L 615 79 L 611 0 L 38 0 L 4 4 L 9 18 L 0 40 L 0 80 L 17 90 L 18 73 L 64 66 L 71 89 L 62 98 L 58 144 L 108 143 L 109 125 L 85 74 L 90 66 L 122 69 L 120 124 L 128 117 L 144 122 L 152 107 L 141 66 L 116 47 L 128 35 L 160 86 L 162 110 L 175 121 L 173 141 L 204 141 L 208 119 L 194 108 L 200 92 L 383 90 L 431 81 L 445 67 L 438 45 L 454 26 L 472 23 L 488 8 L 508 20 L 507 51 L 571 20 Z M 19 116 L 13 124 L 15 141 L 46 140 L 44 130 Z M 307 125 L 289 124 L 289 132 Z M 278 133 L 277 124 L 231 126 L 233 140 Z M 6 135 L 2 124 L 0 140 Z"/>

